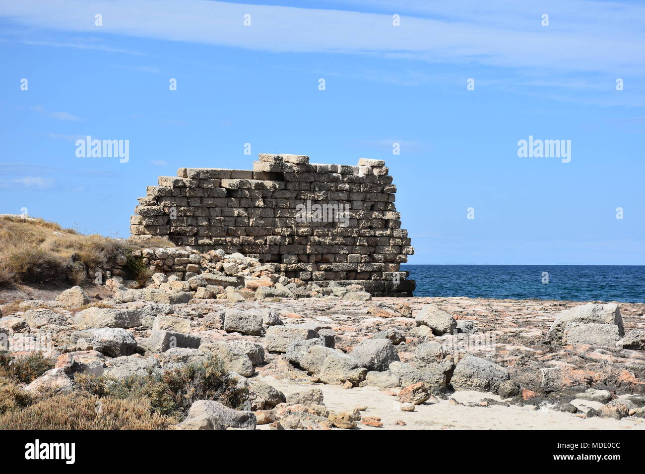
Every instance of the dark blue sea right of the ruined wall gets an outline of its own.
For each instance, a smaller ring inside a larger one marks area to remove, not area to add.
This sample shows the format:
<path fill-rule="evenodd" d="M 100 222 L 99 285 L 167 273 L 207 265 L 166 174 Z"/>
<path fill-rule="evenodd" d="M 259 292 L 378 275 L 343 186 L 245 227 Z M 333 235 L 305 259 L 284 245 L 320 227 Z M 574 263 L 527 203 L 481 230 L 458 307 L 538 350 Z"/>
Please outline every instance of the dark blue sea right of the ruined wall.
<path fill-rule="evenodd" d="M 645 265 L 401 265 L 415 296 L 645 302 Z M 542 272 L 548 283 L 542 283 Z"/>

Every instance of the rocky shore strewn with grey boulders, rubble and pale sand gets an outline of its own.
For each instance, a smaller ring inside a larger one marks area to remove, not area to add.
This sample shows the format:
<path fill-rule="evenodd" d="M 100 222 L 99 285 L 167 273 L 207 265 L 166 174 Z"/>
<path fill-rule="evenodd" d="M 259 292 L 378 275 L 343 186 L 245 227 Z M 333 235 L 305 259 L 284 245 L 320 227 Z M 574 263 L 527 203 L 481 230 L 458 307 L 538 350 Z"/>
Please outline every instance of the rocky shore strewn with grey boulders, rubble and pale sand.
<path fill-rule="evenodd" d="M 234 286 L 158 273 L 146 288 L 116 278 L 52 301 L 0 293 L 0 341 L 19 355 L 51 335 L 57 364 L 32 393 L 215 355 L 248 388 L 246 411 L 200 400 L 177 428 L 644 427 L 645 304 L 372 299 L 221 262 L 233 279 L 255 271 Z"/>

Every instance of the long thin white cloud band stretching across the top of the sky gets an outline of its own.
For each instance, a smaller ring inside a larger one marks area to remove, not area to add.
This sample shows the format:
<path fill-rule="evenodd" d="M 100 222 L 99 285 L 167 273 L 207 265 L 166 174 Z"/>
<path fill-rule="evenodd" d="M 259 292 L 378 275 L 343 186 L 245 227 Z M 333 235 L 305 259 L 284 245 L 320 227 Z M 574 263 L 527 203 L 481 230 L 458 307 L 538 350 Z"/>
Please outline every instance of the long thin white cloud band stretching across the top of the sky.
<path fill-rule="evenodd" d="M 362 5 L 356 2 L 353 5 Z M 434 3 L 432 3 L 434 4 Z M 238 46 L 270 52 L 376 54 L 441 63 L 508 68 L 642 73 L 645 43 L 637 18 L 645 6 L 561 0 L 407 2 L 429 17 L 372 14 L 204 0 L 23 0 L 0 4 L 0 15 L 28 26 L 68 32 Z M 367 4 L 365 4 L 367 5 Z M 378 3 L 399 10 L 398 3 Z M 366 7 L 365 7 L 366 8 Z M 372 7 L 373 8 L 373 7 Z M 101 12 L 103 26 L 94 25 Z M 154 12 L 154 14 L 150 14 Z M 540 17 L 550 14 L 551 26 Z M 252 26 L 243 26 L 243 15 Z"/>

